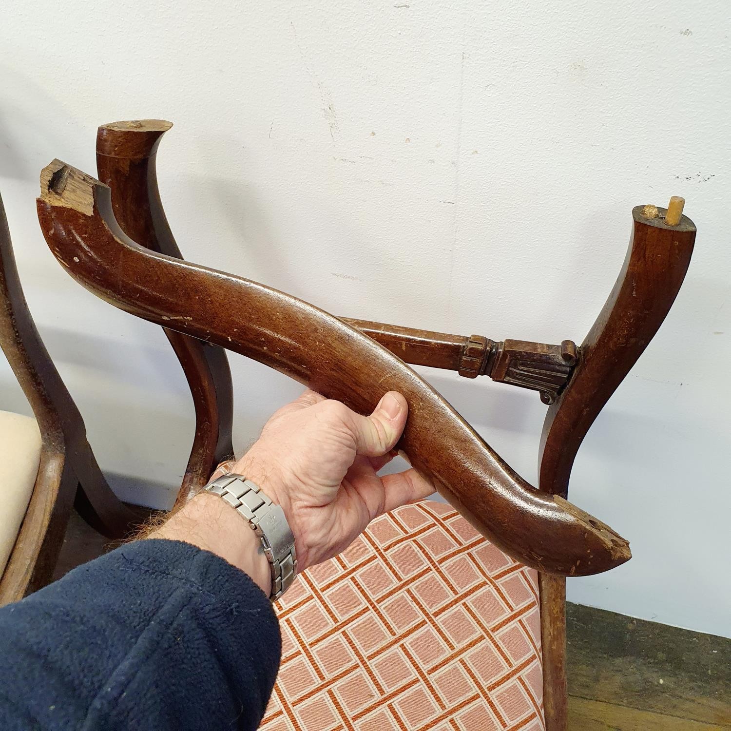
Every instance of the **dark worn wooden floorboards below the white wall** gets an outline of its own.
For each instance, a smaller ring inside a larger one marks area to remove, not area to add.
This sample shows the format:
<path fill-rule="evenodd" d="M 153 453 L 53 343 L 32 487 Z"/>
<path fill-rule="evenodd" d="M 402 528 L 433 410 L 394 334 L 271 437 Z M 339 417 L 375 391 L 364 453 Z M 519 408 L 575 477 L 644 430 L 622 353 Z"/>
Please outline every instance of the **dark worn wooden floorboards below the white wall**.
<path fill-rule="evenodd" d="M 76 515 L 56 577 L 105 550 Z M 571 731 L 731 728 L 731 640 L 567 606 Z"/>

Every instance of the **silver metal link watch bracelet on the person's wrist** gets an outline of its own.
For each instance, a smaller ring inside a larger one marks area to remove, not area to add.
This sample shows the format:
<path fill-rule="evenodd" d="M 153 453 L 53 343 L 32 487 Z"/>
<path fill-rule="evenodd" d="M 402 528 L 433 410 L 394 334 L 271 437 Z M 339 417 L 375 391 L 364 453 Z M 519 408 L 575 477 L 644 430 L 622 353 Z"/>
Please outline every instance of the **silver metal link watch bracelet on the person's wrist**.
<path fill-rule="evenodd" d="M 272 572 L 269 599 L 272 602 L 279 599 L 297 574 L 295 537 L 284 517 L 284 510 L 241 474 L 224 474 L 208 482 L 203 491 L 220 496 L 249 521 L 262 542 Z"/>

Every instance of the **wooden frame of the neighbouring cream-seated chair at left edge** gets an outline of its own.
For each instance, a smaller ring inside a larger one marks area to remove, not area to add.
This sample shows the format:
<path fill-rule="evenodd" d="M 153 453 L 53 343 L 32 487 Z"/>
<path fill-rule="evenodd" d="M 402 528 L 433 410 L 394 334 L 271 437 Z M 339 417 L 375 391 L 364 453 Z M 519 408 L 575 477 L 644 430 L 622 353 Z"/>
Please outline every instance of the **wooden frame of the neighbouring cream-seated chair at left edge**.
<path fill-rule="evenodd" d="M 45 586 L 61 547 L 72 504 L 109 537 L 138 521 L 107 485 L 86 427 L 33 322 L 0 200 L 0 345 L 36 417 L 41 458 L 28 510 L 0 580 L 0 605 Z"/>

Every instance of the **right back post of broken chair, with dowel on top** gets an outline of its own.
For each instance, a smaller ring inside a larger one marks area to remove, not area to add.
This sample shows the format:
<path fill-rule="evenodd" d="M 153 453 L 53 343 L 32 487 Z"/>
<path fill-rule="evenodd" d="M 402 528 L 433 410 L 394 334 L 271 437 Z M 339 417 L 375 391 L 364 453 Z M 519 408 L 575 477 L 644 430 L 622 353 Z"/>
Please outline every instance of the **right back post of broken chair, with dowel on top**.
<path fill-rule="evenodd" d="M 632 210 L 632 239 L 616 284 L 580 346 L 569 383 L 548 409 L 539 453 L 539 487 L 567 497 L 576 453 L 610 396 L 662 325 L 683 284 L 695 241 L 695 226 L 683 216 L 677 226 Z M 539 577 L 542 616 L 544 704 L 547 731 L 567 727 L 566 582 Z"/>

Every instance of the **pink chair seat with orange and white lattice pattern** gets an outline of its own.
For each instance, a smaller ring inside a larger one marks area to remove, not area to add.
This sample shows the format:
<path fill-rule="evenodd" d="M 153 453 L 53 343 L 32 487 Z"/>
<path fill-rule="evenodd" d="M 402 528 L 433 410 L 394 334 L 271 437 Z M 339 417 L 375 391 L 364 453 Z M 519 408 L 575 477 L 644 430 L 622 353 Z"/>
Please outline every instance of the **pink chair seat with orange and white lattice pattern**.
<path fill-rule="evenodd" d="M 449 505 L 374 520 L 276 605 L 265 731 L 543 731 L 537 574 Z"/>

